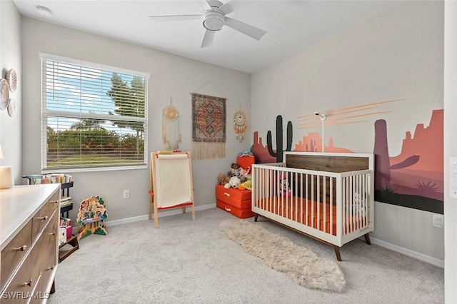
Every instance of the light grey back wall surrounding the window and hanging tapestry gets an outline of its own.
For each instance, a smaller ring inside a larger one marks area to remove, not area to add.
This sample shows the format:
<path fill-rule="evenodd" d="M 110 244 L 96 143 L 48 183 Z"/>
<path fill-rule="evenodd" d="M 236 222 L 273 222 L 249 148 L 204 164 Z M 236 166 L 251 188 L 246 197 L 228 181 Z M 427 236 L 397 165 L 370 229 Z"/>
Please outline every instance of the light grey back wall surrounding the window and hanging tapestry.
<path fill-rule="evenodd" d="M 191 93 L 206 93 L 227 98 L 226 157 L 192 161 L 196 206 L 216 203 L 214 187 L 218 174 L 229 171 L 230 164 L 236 161 L 237 154 L 249 148 L 248 141 L 243 143 L 236 141 L 231 126 L 233 114 L 238 111 L 240 104 L 246 115 L 250 115 L 249 74 L 29 18 L 22 19 L 22 50 L 23 174 L 39 173 L 41 170 L 39 52 L 151 74 L 148 93 L 150 152 L 164 150 L 161 143 L 161 110 L 169 105 L 170 98 L 173 98 L 173 106 L 181 114 L 182 142 L 179 148 L 183 151 L 191 151 Z M 72 175 L 74 188 L 71 188 L 70 196 L 76 199 L 76 203 L 88 196 L 101 196 L 106 203 L 109 221 L 144 216 L 148 213 L 149 170 L 72 173 Z M 130 190 L 129 199 L 122 198 L 123 189 Z M 79 205 L 76 209 L 78 207 Z M 76 219 L 75 210 L 70 215 L 74 220 Z"/>

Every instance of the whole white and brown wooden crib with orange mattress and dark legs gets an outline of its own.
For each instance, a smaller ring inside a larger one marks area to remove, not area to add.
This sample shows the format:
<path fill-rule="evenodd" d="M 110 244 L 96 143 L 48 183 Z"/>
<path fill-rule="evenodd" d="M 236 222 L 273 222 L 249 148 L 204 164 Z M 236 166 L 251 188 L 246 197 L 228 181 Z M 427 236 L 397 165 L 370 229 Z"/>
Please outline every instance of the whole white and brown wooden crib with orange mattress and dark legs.
<path fill-rule="evenodd" d="M 374 156 L 285 152 L 252 167 L 252 211 L 339 248 L 374 229 Z"/>

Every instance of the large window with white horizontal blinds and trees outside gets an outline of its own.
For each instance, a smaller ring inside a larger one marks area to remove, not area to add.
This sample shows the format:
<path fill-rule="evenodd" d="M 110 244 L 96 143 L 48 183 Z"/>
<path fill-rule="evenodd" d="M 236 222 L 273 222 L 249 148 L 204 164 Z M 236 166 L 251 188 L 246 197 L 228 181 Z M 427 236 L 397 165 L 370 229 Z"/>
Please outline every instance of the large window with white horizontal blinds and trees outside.
<path fill-rule="evenodd" d="M 40 58 L 42 171 L 145 168 L 149 75 Z"/>

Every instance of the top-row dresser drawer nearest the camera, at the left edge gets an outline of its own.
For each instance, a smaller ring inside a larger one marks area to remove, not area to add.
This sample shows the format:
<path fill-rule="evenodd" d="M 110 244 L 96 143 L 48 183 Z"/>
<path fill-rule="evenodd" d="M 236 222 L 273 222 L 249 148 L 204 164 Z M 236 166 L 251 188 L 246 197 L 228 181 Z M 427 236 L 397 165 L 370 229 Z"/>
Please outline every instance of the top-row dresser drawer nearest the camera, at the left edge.
<path fill-rule="evenodd" d="M 0 290 L 6 281 L 11 278 L 14 270 L 29 252 L 31 246 L 31 221 L 26 223 L 19 233 L 1 250 L 1 278 Z"/>

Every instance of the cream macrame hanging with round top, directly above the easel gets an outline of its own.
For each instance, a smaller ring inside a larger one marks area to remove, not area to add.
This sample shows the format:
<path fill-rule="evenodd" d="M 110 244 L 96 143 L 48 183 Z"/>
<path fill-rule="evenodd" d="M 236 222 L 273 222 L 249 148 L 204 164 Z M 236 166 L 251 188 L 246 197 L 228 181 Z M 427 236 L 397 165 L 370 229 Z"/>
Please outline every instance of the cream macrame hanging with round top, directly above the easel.
<path fill-rule="evenodd" d="M 162 110 L 162 143 L 166 150 L 178 150 L 181 143 L 181 134 L 179 133 L 179 112 L 170 105 Z"/>

